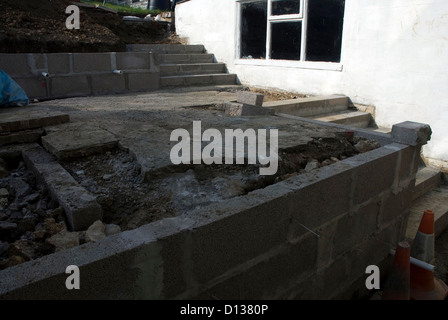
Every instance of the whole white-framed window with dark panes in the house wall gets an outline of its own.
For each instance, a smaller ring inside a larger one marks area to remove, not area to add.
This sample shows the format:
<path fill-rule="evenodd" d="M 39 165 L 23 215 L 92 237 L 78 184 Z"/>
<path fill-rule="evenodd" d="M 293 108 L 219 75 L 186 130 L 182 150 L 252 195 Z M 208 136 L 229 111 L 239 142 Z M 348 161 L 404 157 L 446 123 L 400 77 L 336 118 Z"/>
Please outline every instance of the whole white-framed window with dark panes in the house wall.
<path fill-rule="evenodd" d="M 239 2 L 239 58 L 340 62 L 345 0 Z"/>

